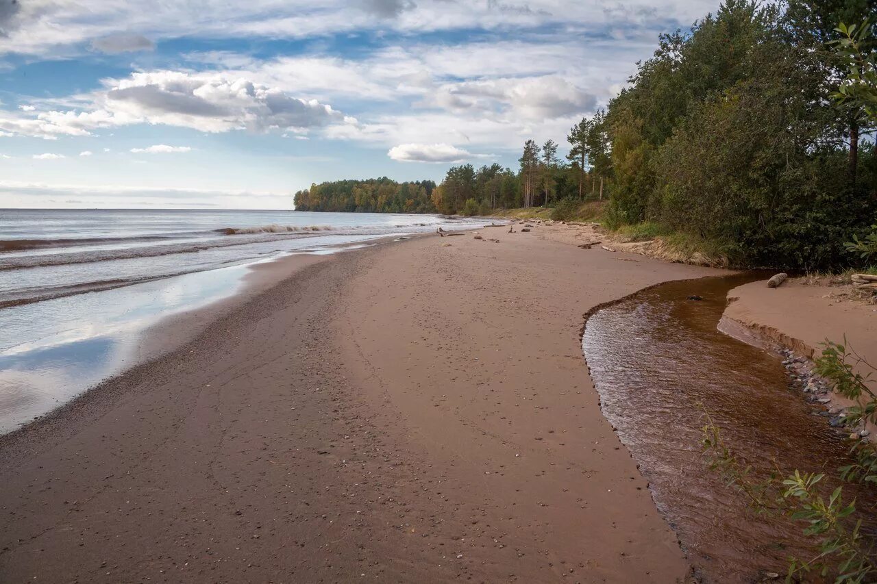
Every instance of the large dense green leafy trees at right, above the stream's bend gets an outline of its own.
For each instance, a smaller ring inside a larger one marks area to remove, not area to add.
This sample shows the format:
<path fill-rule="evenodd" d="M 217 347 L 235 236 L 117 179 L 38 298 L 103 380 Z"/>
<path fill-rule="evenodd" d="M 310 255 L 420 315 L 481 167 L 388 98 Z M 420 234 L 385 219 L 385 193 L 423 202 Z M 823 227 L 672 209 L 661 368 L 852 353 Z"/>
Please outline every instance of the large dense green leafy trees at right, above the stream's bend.
<path fill-rule="evenodd" d="M 662 36 L 606 114 L 607 224 L 663 224 L 745 265 L 849 261 L 843 242 L 877 214 L 877 157 L 847 144 L 869 127 L 831 100 L 839 69 L 825 23 L 873 9 L 729 0 Z"/>

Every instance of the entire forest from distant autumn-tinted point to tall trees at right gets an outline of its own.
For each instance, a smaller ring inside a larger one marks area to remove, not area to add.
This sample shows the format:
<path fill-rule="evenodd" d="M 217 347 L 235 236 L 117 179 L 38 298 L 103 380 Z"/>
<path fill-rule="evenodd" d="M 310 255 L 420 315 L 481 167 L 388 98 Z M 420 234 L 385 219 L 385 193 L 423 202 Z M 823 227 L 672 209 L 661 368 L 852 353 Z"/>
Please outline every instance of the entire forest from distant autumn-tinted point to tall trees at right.
<path fill-rule="evenodd" d="M 858 25 L 845 45 L 842 23 Z M 845 242 L 877 223 L 875 32 L 877 0 L 727 0 L 660 36 L 620 94 L 570 128 L 563 158 L 555 140 L 527 140 L 516 169 L 323 183 L 296 193 L 296 209 L 478 215 L 602 200 L 610 229 L 684 234 L 741 266 L 842 265 Z"/>

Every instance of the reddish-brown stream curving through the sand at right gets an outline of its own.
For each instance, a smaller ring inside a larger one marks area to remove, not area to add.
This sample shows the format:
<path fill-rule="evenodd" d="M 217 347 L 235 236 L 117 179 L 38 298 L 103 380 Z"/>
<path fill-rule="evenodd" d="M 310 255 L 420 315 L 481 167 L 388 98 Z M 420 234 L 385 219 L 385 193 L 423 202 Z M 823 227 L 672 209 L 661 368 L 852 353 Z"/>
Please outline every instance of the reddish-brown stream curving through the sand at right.
<path fill-rule="evenodd" d="M 582 347 L 605 416 L 705 582 L 760 580 L 807 558 L 800 524 L 756 516 L 706 465 L 702 413 L 756 472 L 775 461 L 836 475 L 848 444 L 793 388 L 776 353 L 718 331 L 726 295 L 765 274 L 662 284 L 598 310 Z M 700 302 L 688 296 L 702 296 Z M 828 464 L 825 461 L 829 461 Z M 845 489 L 847 490 L 847 489 Z"/>

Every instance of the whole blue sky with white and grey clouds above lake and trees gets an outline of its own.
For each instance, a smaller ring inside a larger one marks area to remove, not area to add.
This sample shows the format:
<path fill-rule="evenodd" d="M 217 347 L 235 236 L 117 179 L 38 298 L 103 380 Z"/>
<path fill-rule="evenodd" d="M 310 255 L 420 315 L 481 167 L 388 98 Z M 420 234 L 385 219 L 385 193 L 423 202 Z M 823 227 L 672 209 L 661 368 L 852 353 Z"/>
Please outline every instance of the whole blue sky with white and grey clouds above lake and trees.
<path fill-rule="evenodd" d="M 517 167 L 717 0 L 0 0 L 0 208 Z"/>

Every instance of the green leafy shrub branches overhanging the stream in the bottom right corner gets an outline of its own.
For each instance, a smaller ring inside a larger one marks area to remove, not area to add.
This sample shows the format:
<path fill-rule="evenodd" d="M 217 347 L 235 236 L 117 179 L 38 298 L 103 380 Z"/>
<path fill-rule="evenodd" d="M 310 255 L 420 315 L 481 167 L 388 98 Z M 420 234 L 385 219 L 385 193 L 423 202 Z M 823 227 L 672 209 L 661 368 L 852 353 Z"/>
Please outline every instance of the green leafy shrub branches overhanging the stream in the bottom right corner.
<path fill-rule="evenodd" d="M 877 484 L 877 448 L 860 439 L 859 429 L 877 422 L 877 395 L 869 387 L 871 374 L 860 374 L 866 368 L 877 371 L 863 357 L 844 344 L 826 340 L 822 354 L 816 358 L 816 373 L 824 377 L 831 389 L 856 402 L 842 418 L 851 434 L 854 462 L 838 469 L 841 481 L 856 482 L 874 488 Z M 709 468 L 717 471 L 728 485 L 745 495 L 752 509 L 761 514 L 785 516 L 803 522 L 803 535 L 816 538 L 816 555 L 810 559 L 790 558 L 786 581 L 792 582 L 805 574 L 833 577 L 835 582 L 866 582 L 877 577 L 877 555 L 874 536 L 861 530 L 861 512 L 856 501 L 845 502 L 843 487 L 834 488 L 825 496 L 825 474 L 786 474 L 779 469 L 765 477 L 757 477 L 752 466 L 742 463 L 725 445 L 721 431 L 709 413 L 705 414 L 703 451 L 709 457 Z"/>

